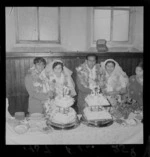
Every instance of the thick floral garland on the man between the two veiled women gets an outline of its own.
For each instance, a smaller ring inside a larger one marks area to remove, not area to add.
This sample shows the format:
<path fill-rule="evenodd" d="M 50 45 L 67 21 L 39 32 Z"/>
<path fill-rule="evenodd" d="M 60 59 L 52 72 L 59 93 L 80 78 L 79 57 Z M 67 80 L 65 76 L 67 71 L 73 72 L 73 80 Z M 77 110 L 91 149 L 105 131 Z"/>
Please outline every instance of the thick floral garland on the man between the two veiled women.
<path fill-rule="evenodd" d="M 79 76 L 81 84 L 86 88 L 90 88 L 92 83 L 95 83 L 95 85 L 99 85 L 100 82 L 102 81 L 103 72 L 100 68 L 100 65 L 96 64 L 93 68 L 95 68 L 93 78 L 90 78 L 90 76 L 89 76 L 90 72 L 87 68 L 86 63 L 83 63 L 81 66 L 76 68 L 77 75 Z"/>

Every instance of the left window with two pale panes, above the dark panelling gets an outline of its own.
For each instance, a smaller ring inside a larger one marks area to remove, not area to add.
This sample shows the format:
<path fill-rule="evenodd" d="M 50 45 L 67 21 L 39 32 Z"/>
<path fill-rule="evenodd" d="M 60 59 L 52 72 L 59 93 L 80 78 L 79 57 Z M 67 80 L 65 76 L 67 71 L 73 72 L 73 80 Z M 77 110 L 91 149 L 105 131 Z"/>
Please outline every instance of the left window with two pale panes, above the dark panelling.
<path fill-rule="evenodd" d="M 17 7 L 17 43 L 60 43 L 59 7 Z"/>

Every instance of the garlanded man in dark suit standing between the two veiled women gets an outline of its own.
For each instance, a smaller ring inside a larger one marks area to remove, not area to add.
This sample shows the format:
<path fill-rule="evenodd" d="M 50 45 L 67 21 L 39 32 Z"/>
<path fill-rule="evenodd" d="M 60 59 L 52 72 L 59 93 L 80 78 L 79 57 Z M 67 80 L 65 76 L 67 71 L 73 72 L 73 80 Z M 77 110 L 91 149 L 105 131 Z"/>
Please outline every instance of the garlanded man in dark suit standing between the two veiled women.
<path fill-rule="evenodd" d="M 102 70 L 97 64 L 97 56 L 89 54 L 83 64 L 76 68 L 76 84 L 78 88 L 77 106 L 78 113 L 82 114 L 83 109 L 87 106 L 85 97 L 91 94 L 92 90 L 103 85 Z"/>

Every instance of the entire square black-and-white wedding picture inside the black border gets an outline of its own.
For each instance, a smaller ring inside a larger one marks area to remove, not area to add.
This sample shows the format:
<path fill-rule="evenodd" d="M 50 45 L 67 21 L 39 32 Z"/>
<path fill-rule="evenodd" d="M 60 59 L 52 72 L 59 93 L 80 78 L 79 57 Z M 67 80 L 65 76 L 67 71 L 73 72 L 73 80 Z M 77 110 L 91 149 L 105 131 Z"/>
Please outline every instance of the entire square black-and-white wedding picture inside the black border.
<path fill-rule="evenodd" d="M 144 144 L 143 21 L 144 6 L 5 6 L 6 145 Z"/>

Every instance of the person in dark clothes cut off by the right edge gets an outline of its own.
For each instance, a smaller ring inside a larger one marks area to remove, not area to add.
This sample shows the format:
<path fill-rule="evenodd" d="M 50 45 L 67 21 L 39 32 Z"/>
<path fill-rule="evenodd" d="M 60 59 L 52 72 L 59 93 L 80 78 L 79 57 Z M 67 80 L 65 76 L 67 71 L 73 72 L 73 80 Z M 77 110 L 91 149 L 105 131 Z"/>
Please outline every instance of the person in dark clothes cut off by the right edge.
<path fill-rule="evenodd" d="M 129 78 L 128 92 L 129 97 L 137 102 L 137 110 L 143 109 L 143 62 L 140 62 L 135 74 Z"/>

